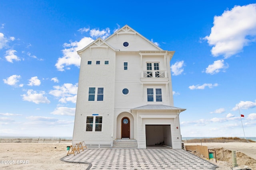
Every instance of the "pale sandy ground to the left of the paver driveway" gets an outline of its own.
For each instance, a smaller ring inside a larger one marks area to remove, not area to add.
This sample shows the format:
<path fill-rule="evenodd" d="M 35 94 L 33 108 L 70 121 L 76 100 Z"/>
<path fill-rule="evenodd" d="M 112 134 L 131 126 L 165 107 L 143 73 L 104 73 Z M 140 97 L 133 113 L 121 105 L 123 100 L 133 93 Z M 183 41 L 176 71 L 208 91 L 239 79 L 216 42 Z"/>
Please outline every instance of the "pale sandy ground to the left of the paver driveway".
<path fill-rule="evenodd" d="M 67 146 L 70 143 L 0 143 L 0 169 L 86 170 L 88 164 L 60 160 Z"/>

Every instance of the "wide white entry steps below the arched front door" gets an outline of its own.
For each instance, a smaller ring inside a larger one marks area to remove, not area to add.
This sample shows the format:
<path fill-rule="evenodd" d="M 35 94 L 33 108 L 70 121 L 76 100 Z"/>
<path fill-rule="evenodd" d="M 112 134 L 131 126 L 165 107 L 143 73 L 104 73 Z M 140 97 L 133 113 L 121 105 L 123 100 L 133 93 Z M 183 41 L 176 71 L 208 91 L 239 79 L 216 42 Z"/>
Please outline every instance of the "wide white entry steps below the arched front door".
<path fill-rule="evenodd" d="M 135 139 L 115 139 L 112 149 L 138 149 L 138 142 Z"/>

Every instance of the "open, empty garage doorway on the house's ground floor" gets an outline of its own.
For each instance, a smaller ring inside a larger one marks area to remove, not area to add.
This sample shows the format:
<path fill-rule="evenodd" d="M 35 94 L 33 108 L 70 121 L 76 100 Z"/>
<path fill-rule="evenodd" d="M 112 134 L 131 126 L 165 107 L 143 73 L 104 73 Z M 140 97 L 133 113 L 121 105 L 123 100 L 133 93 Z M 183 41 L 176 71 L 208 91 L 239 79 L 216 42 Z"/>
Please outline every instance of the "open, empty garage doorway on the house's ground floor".
<path fill-rule="evenodd" d="M 146 145 L 172 147 L 171 125 L 146 125 Z"/>

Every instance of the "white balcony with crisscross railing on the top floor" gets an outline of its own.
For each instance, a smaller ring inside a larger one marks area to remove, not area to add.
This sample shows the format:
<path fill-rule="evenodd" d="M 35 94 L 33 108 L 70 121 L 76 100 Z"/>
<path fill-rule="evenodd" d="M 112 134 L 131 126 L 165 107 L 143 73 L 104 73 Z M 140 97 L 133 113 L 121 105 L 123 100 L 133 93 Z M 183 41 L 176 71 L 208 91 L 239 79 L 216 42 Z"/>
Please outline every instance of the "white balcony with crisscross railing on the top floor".
<path fill-rule="evenodd" d="M 146 70 L 142 71 L 140 81 L 142 84 L 167 84 L 168 75 L 166 71 Z"/>

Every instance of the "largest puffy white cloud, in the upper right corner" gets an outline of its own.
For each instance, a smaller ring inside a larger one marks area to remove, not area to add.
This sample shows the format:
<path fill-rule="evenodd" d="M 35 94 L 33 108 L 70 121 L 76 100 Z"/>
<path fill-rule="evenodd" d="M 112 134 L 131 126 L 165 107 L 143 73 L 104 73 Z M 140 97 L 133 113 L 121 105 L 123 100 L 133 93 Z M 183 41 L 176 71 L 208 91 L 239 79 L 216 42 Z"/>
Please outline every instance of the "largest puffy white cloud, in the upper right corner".
<path fill-rule="evenodd" d="M 212 47 L 212 55 L 226 58 L 239 53 L 243 47 L 256 41 L 256 4 L 234 6 L 221 16 L 214 16 L 214 26 L 204 37 Z"/>

